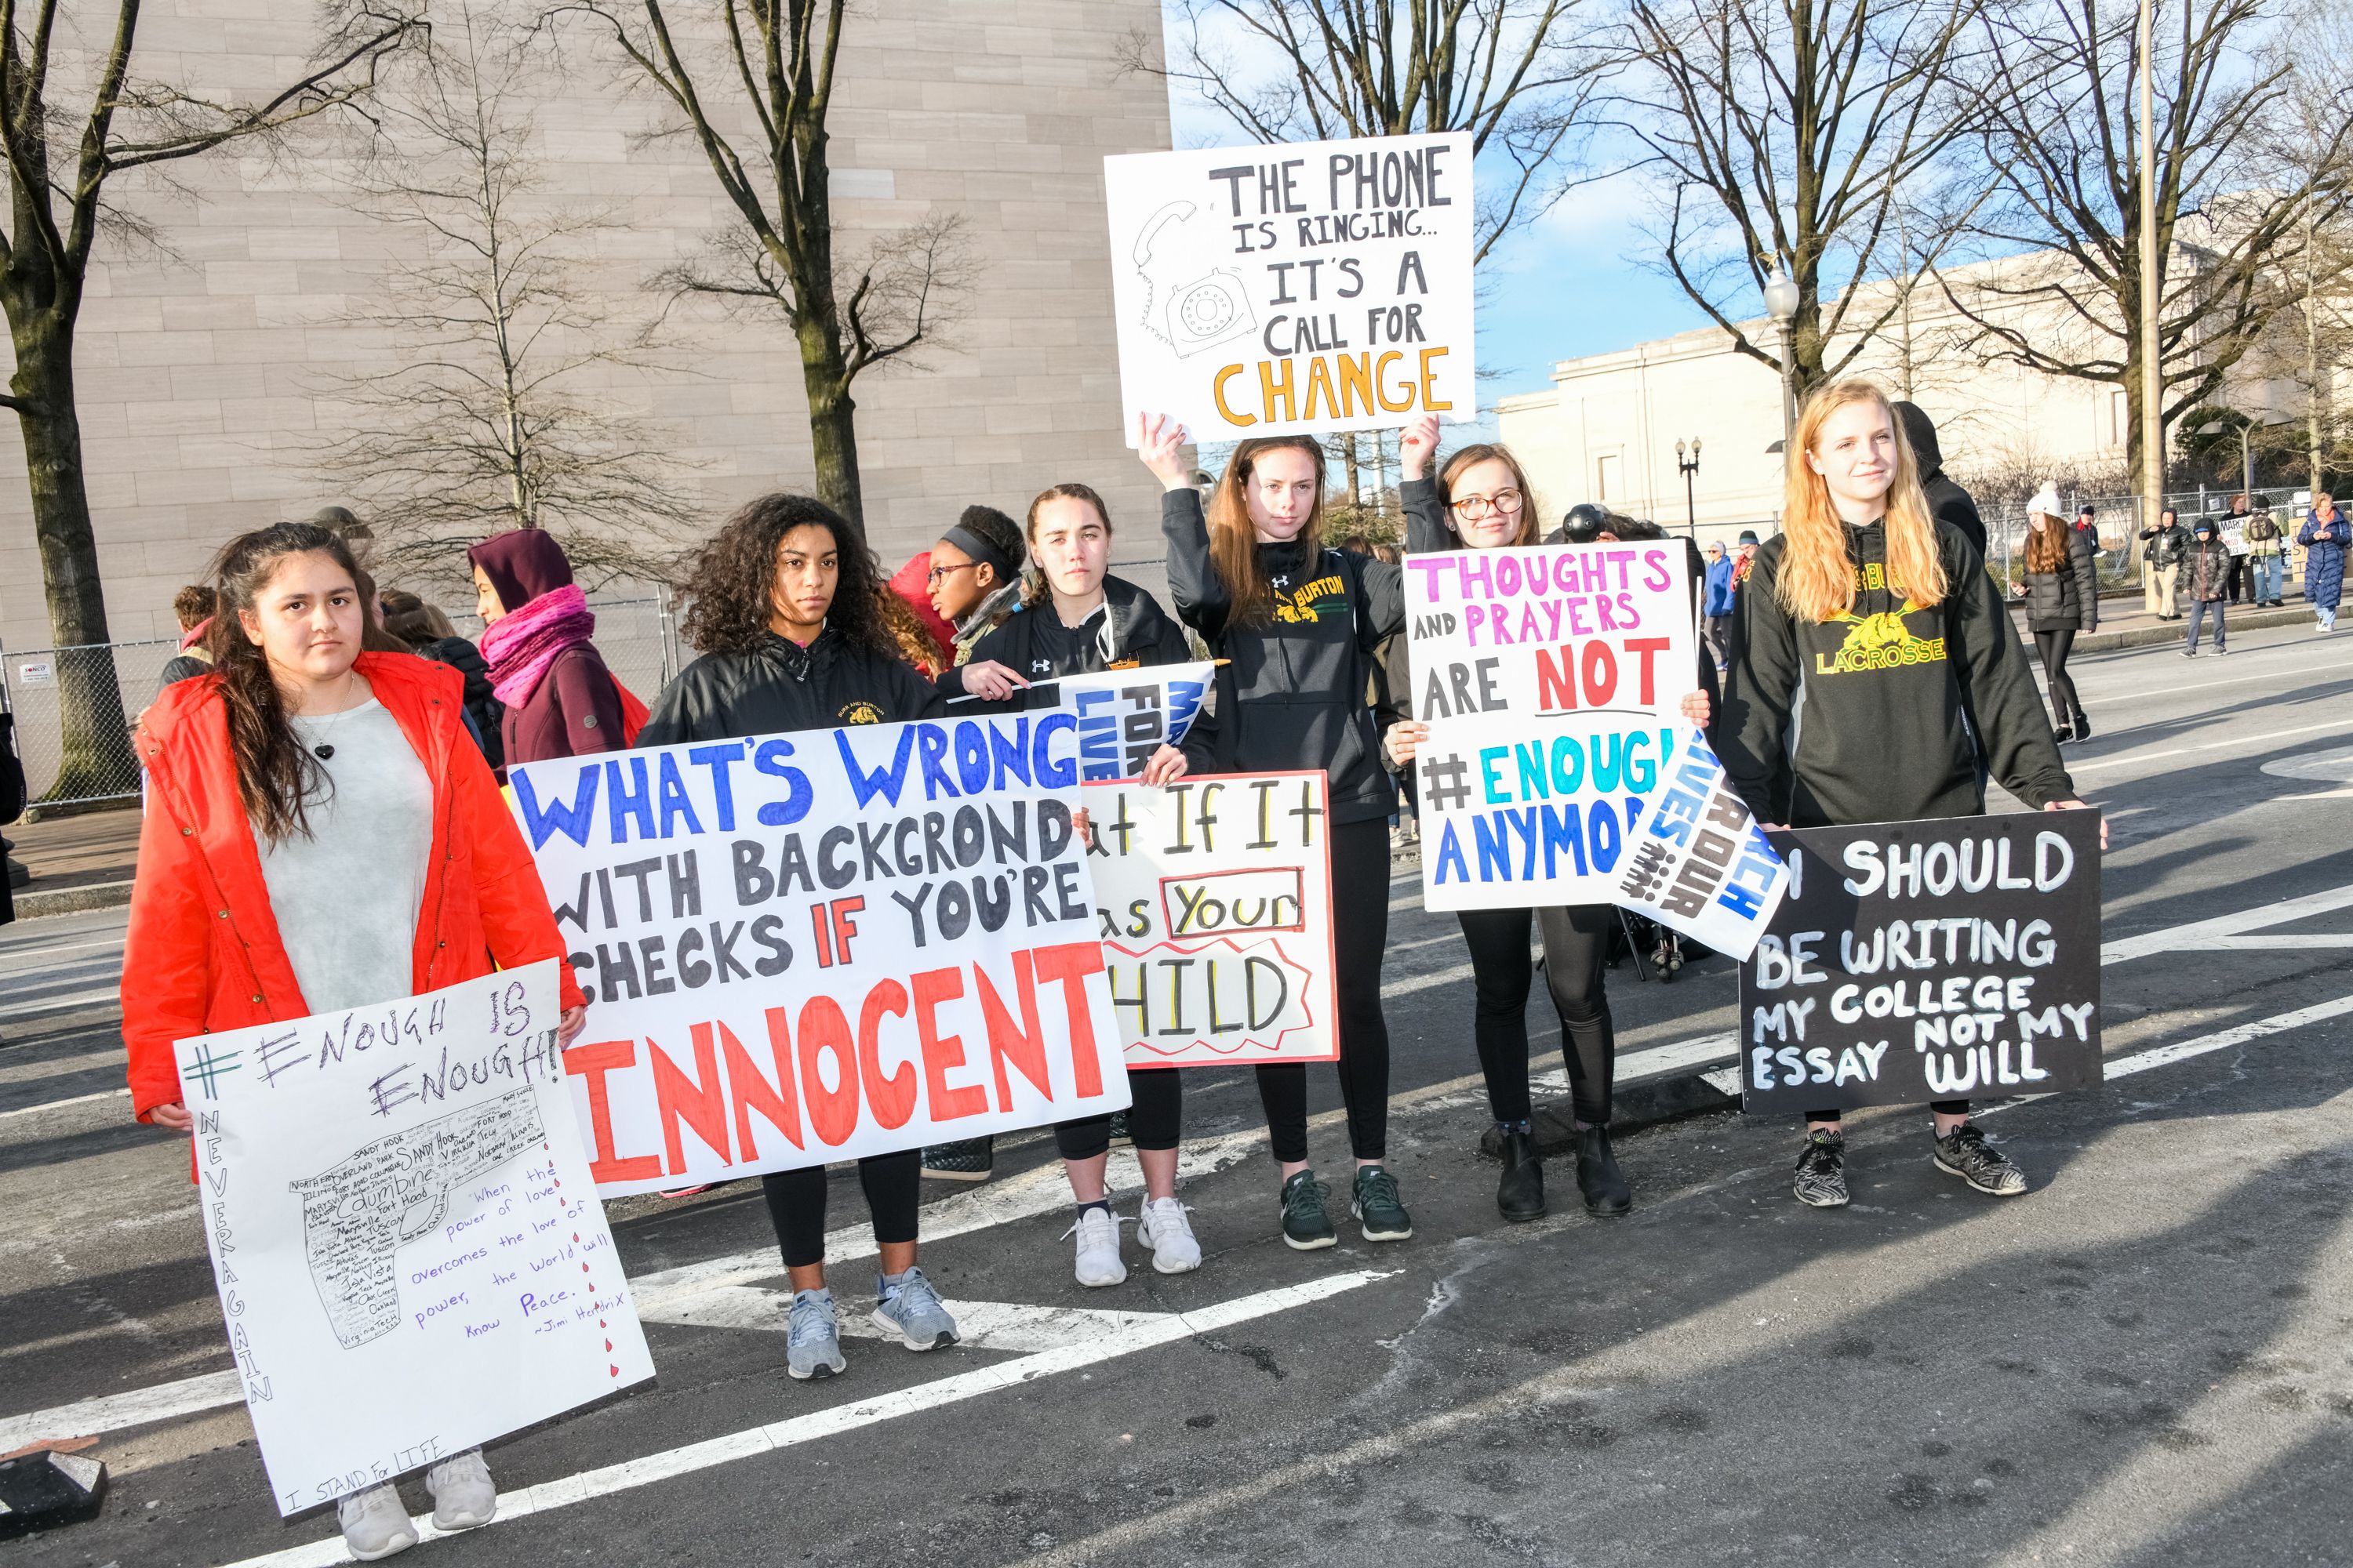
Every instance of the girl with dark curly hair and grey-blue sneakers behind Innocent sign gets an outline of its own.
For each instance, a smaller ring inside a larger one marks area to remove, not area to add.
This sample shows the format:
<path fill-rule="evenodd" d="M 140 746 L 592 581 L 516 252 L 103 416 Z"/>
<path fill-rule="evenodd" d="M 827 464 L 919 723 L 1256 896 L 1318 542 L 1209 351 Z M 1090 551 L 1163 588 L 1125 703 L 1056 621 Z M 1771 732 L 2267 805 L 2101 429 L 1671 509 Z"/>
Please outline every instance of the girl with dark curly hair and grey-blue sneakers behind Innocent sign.
<path fill-rule="evenodd" d="M 751 501 L 694 562 L 682 630 L 701 658 L 668 684 L 638 743 L 896 724 L 936 712 L 932 682 L 899 658 L 878 588 L 866 545 L 824 501 Z M 908 1349 L 939 1349 L 955 1345 L 955 1319 L 915 1267 L 920 1168 L 918 1150 L 868 1154 L 859 1185 L 882 1262 L 873 1319 Z M 772 1171 L 760 1185 L 793 1279 L 786 1371 L 831 1378 L 845 1361 L 826 1288 L 826 1168 Z"/>

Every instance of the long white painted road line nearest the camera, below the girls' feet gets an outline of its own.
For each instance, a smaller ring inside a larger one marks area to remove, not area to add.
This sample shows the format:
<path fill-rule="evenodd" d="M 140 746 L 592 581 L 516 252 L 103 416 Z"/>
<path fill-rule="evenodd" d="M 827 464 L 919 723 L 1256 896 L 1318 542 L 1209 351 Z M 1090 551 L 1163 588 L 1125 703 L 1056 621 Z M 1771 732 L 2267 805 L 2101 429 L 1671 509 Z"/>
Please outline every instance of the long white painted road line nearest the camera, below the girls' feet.
<path fill-rule="evenodd" d="M 1068 1373 L 1080 1366 L 1094 1366 L 1115 1356 L 1132 1356 L 1139 1349 L 1155 1349 L 1193 1335 L 1217 1333 L 1219 1328 L 1231 1328 L 1233 1324 L 1247 1324 L 1249 1319 L 1289 1312 L 1292 1307 L 1306 1307 L 1308 1302 L 1369 1286 L 1377 1279 L 1386 1279 L 1386 1274 L 1377 1269 L 1355 1269 L 1299 1286 L 1282 1286 L 1278 1291 L 1259 1291 L 1254 1295 L 1242 1295 L 1198 1312 L 1151 1314 L 1146 1321 L 1111 1328 L 1064 1349 L 1045 1349 L 1014 1361 L 1002 1361 L 998 1366 L 981 1366 L 953 1378 L 939 1378 L 936 1382 L 918 1382 L 915 1387 L 899 1389 L 894 1394 L 878 1394 L 875 1399 L 861 1399 L 831 1410 L 812 1410 L 809 1415 L 772 1422 L 767 1427 L 746 1427 L 744 1432 L 704 1439 L 701 1443 L 685 1443 L 682 1448 L 649 1453 L 642 1460 L 586 1469 L 576 1476 L 562 1476 L 560 1481 L 541 1481 L 539 1486 L 527 1486 L 520 1493 L 501 1493 L 499 1519 L 482 1528 L 496 1530 L 508 1521 L 569 1507 L 574 1502 L 588 1502 L 591 1497 L 609 1497 L 638 1486 L 668 1481 L 671 1476 L 685 1476 L 765 1453 L 781 1453 L 800 1443 L 814 1443 L 828 1436 L 840 1436 L 842 1432 L 856 1432 L 859 1427 L 871 1427 L 896 1415 L 936 1410 L 981 1394 L 995 1394 L 998 1389 L 1038 1382 L 1040 1378 L 1054 1378 L 1056 1373 Z M 419 1544 L 442 1540 L 442 1533 L 433 1528 L 431 1514 L 419 1514 L 414 1523 Z M 468 1530 L 468 1535 L 471 1533 L 473 1530 Z M 231 1568 L 329 1568 L 332 1563 L 348 1561 L 351 1554 L 344 1549 L 344 1537 L 334 1535 L 301 1547 L 287 1547 L 285 1552 L 249 1556 Z"/>

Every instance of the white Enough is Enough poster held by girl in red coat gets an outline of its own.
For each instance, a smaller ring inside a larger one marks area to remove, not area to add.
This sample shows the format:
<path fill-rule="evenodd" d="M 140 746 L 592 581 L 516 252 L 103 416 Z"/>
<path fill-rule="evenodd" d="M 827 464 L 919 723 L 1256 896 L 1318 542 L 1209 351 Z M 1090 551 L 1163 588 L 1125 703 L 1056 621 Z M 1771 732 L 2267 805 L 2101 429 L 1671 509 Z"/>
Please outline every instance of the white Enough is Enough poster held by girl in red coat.
<path fill-rule="evenodd" d="M 280 1514 L 654 1375 L 555 961 L 184 1039 L 221 1316 Z"/>

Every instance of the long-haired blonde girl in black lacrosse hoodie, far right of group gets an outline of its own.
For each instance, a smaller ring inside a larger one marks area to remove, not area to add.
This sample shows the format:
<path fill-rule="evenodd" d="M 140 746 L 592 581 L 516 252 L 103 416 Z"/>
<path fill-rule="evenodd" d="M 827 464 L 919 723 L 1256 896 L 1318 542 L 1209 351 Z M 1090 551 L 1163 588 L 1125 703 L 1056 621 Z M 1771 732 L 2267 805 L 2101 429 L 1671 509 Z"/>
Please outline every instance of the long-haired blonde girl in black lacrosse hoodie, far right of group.
<path fill-rule="evenodd" d="M 1784 489 L 1784 531 L 1758 550 L 1734 602 L 1715 736 L 1758 820 L 1984 816 L 1986 773 L 2028 806 L 2087 809 L 1993 578 L 1967 538 L 1929 517 L 1887 395 L 1868 381 L 1814 393 Z M 1995 1197 L 2026 1192 L 1967 1100 L 1929 1110 L 1939 1171 Z M 1798 1201 L 1842 1206 L 1845 1159 L 1838 1112 L 1807 1112 Z"/>

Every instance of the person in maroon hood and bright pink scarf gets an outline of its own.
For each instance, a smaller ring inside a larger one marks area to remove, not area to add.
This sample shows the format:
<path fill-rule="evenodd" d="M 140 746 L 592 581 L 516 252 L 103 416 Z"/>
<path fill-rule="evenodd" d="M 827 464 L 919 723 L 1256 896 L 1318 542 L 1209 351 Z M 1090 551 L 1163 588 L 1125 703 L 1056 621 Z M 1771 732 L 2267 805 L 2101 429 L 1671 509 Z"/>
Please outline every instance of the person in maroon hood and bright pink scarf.
<path fill-rule="evenodd" d="M 506 705 L 499 726 L 506 762 L 626 750 L 645 722 L 645 705 L 621 689 L 588 642 L 595 616 L 572 583 L 565 548 L 541 529 L 513 529 L 466 550 L 466 559 L 482 611 L 489 684 Z"/>

